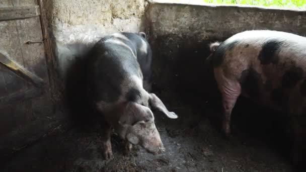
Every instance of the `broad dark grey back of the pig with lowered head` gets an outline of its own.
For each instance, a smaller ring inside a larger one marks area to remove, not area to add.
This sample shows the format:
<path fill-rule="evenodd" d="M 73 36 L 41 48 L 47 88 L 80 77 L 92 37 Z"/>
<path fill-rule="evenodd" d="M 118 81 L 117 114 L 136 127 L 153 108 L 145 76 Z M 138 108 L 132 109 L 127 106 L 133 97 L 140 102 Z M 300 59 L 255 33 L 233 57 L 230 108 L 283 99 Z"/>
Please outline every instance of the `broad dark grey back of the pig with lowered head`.
<path fill-rule="evenodd" d="M 95 102 L 115 102 L 142 73 L 133 49 L 113 37 L 95 44 L 89 57 L 89 85 Z"/>

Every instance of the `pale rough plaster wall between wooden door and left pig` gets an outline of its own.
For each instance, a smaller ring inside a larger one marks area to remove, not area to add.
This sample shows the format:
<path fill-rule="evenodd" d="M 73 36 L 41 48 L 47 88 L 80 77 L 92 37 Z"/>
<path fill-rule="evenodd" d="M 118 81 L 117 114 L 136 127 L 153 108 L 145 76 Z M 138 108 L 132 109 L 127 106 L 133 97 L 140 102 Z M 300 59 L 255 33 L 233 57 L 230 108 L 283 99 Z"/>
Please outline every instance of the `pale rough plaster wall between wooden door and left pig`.
<path fill-rule="evenodd" d="M 146 4 L 144 0 L 45 0 L 60 76 L 65 78 L 70 63 L 105 34 L 143 30 Z"/>

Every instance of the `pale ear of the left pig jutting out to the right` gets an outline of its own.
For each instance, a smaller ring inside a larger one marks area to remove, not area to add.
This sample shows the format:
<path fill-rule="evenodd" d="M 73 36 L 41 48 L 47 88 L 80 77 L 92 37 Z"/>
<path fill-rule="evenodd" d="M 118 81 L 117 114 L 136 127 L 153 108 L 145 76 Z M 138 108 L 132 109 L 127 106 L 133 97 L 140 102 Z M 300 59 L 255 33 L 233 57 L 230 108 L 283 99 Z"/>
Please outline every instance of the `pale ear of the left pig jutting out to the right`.
<path fill-rule="evenodd" d="M 163 112 L 168 118 L 176 119 L 178 116 L 174 112 L 169 112 L 164 103 L 154 93 L 149 95 L 149 104 L 161 112 Z"/>

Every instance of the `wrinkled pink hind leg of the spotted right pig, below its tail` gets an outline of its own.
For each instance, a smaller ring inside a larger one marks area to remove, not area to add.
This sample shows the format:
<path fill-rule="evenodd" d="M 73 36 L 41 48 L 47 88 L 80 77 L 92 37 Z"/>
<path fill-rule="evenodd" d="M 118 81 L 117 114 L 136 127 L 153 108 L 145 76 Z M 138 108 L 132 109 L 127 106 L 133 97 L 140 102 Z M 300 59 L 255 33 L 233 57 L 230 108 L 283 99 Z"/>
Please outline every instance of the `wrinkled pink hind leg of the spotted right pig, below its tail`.
<path fill-rule="evenodd" d="M 241 94 L 241 85 L 238 81 L 222 79 L 218 81 L 222 95 L 222 132 L 225 136 L 231 133 L 231 115 L 238 97 Z"/>

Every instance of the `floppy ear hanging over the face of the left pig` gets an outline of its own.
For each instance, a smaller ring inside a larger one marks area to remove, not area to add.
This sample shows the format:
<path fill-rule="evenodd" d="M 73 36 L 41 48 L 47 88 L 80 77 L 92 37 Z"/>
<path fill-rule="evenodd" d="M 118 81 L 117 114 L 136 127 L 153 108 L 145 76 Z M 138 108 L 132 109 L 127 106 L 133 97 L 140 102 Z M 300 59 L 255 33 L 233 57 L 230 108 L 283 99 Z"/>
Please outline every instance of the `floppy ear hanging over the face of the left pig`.
<path fill-rule="evenodd" d="M 153 113 L 145 106 L 129 102 L 119 119 L 119 124 L 133 125 L 138 121 L 154 121 Z"/>

